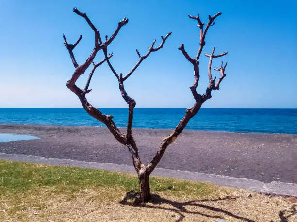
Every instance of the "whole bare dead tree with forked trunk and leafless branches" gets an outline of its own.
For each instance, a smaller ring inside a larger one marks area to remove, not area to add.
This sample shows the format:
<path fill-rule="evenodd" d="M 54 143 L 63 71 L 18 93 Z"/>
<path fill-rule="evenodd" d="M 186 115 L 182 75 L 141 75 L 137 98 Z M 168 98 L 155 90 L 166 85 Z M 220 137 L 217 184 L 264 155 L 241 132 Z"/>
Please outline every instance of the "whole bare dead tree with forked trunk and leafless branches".
<path fill-rule="evenodd" d="M 184 117 L 181 119 L 181 121 L 179 122 L 179 124 L 176 126 L 176 128 L 173 130 L 173 132 L 166 138 L 164 138 L 161 142 L 161 145 L 156 153 L 156 155 L 153 157 L 152 161 L 148 164 L 143 164 L 139 158 L 138 155 L 138 148 L 137 145 L 135 143 L 135 140 L 132 136 L 132 121 L 133 121 L 133 110 L 136 106 L 136 102 L 134 99 L 132 99 L 126 92 L 125 88 L 124 88 L 124 81 L 126 81 L 131 74 L 136 70 L 136 68 L 141 64 L 141 62 L 146 59 L 151 52 L 156 52 L 159 49 L 161 49 L 166 41 L 166 39 L 171 35 L 171 32 L 169 32 L 165 37 L 161 36 L 162 41 L 161 44 L 158 47 L 154 48 L 154 45 L 156 43 L 156 39 L 152 42 L 151 46 L 148 47 L 148 52 L 141 56 L 138 49 L 136 49 L 136 53 L 139 57 L 139 60 L 137 61 L 136 65 L 125 75 L 123 75 L 122 73 L 118 74 L 114 67 L 112 66 L 111 62 L 110 62 L 110 58 L 112 57 L 113 54 L 108 54 L 107 52 L 107 47 L 109 44 L 111 44 L 111 42 L 115 39 L 115 36 L 117 35 L 117 33 L 119 32 L 119 30 L 128 23 L 128 19 L 124 18 L 122 21 L 120 21 L 118 23 L 118 26 L 115 30 L 115 32 L 112 34 L 112 36 L 110 38 L 108 38 L 108 36 L 105 36 L 105 42 L 102 41 L 100 33 L 98 31 L 98 29 L 93 25 L 93 23 L 90 21 L 90 19 L 87 17 L 87 15 L 85 13 L 80 12 L 77 8 L 74 8 L 73 11 L 77 14 L 80 15 L 81 17 L 83 17 L 86 22 L 88 23 L 88 25 L 92 28 L 92 30 L 94 30 L 95 32 L 95 46 L 93 48 L 93 51 L 91 53 L 91 55 L 86 59 L 86 61 L 82 64 L 79 65 L 74 57 L 73 54 L 73 49 L 77 46 L 77 44 L 81 41 L 82 36 L 79 37 L 79 39 L 76 41 L 75 44 L 68 44 L 66 41 L 66 37 L 65 35 L 63 35 L 63 38 L 65 40 L 65 46 L 69 52 L 70 58 L 72 60 L 72 63 L 75 67 L 75 71 L 72 74 L 71 79 L 69 79 L 67 81 L 67 87 L 74 92 L 80 99 L 83 108 L 86 110 L 86 112 L 91 115 L 92 117 L 98 119 L 100 122 L 104 123 L 107 128 L 110 130 L 110 132 L 114 135 L 115 139 L 117 141 L 119 141 L 121 144 L 125 145 L 129 152 L 130 155 L 132 157 L 132 161 L 133 161 L 133 165 L 134 168 L 138 174 L 138 178 L 139 178 L 139 184 L 140 184 L 140 199 L 142 202 L 146 202 L 151 198 L 150 195 L 150 189 L 149 189 L 149 175 L 151 174 L 151 172 L 155 169 L 155 167 L 157 166 L 157 164 L 160 162 L 166 148 L 168 147 L 168 145 L 170 145 L 182 132 L 182 130 L 186 127 L 187 123 L 189 122 L 189 120 L 191 118 L 193 118 L 196 113 L 198 112 L 198 110 L 200 109 L 201 105 L 208 99 L 211 98 L 211 92 L 212 90 L 219 90 L 219 85 L 221 83 L 221 81 L 223 80 L 223 78 L 226 76 L 225 74 L 225 68 L 226 65 L 223 67 L 223 62 L 220 68 L 215 68 L 215 70 L 220 71 L 221 73 L 221 77 L 219 78 L 219 80 L 217 81 L 217 83 L 215 83 L 215 78 L 213 79 L 212 77 L 212 73 L 211 73 L 211 66 L 212 66 L 212 60 L 213 58 L 218 58 L 221 56 L 224 56 L 227 54 L 227 52 L 224 52 L 220 55 L 214 55 L 214 50 L 213 49 L 211 55 L 207 55 L 205 54 L 205 56 L 209 57 L 209 65 L 208 65 L 208 77 L 209 77 L 209 84 L 208 87 L 206 89 L 206 92 L 203 95 L 200 95 L 197 93 L 197 86 L 198 86 L 198 82 L 199 82 L 199 57 L 201 55 L 203 46 L 205 45 L 205 35 L 207 33 L 207 30 L 209 29 L 209 27 L 211 25 L 214 24 L 214 19 L 216 17 L 218 17 L 219 15 L 221 15 L 221 12 L 217 13 L 216 15 L 214 15 L 213 17 L 209 16 L 209 21 L 206 25 L 205 30 L 203 31 L 203 25 L 204 23 L 201 22 L 199 15 L 196 16 L 191 16 L 189 15 L 190 18 L 197 20 L 198 21 L 198 27 L 200 28 L 200 46 L 198 49 L 198 53 L 195 57 L 195 59 L 191 58 L 187 52 L 184 49 L 184 45 L 181 44 L 181 46 L 179 47 L 179 49 L 181 50 L 181 52 L 183 53 L 183 55 L 185 56 L 185 58 L 193 64 L 194 66 L 194 84 L 190 87 L 193 96 L 196 100 L 196 103 L 194 104 L 193 107 L 191 108 L 187 108 L 186 109 L 186 113 L 184 115 Z M 105 56 L 105 59 L 103 59 L 102 61 L 100 61 L 98 64 L 94 63 L 94 58 L 97 54 L 97 52 L 99 50 L 102 50 Z M 99 67 L 103 62 L 107 62 L 109 68 L 111 69 L 111 71 L 113 72 L 113 74 L 115 75 L 115 77 L 118 80 L 118 84 L 119 84 L 119 89 L 121 92 L 121 95 L 123 97 L 123 99 L 126 101 L 126 103 L 128 104 L 129 107 L 129 115 L 128 115 L 128 122 L 127 122 L 127 130 L 126 133 L 122 133 L 120 132 L 120 130 L 118 129 L 118 127 L 115 125 L 115 122 L 112 120 L 113 116 L 112 115 L 105 115 L 102 112 L 99 111 L 99 109 L 93 107 L 86 99 L 86 94 L 89 93 L 92 89 L 88 89 L 90 81 L 92 79 L 92 76 L 96 70 L 97 67 Z M 93 64 L 93 68 L 92 71 L 89 74 L 89 78 L 87 80 L 87 83 L 84 87 L 84 89 L 80 89 L 75 83 L 77 81 L 77 79 L 84 74 L 85 70 L 91 65 Z"/>

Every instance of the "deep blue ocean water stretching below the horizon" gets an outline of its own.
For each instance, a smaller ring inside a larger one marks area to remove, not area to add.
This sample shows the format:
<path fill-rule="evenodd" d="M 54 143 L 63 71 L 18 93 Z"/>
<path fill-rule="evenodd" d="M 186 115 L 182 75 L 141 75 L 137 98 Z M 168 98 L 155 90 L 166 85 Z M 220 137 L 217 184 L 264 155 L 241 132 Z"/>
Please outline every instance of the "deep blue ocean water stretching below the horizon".
<path fill-rule="evenodd" d="M 118 127 L 127 124 L 128 109 L 100 108 L 114 116 Z M 172 129 L 185 109 L 134 110 L 133 127 Z M 104 126 L 82 108 L 0 108 L 0 123 Z M 297 109 L 200 109 L 186 129 L 297 134 Z"/>

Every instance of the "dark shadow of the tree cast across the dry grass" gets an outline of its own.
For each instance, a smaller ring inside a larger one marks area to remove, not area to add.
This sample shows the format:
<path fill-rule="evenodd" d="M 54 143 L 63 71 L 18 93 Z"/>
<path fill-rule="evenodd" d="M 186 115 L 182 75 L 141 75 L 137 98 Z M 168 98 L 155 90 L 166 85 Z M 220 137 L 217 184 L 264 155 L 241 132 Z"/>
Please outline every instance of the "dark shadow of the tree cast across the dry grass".
<path fill-rule="evenodd" d="M 186 202 L 177 202 L 177 201 L 171 201 L 171 200 L 161 198 L 159 195 L 156 195 L 156 194 L 152 194 L 152 199 L 151 199 L 150 203 L 169 204 L 172 207 L 174 207 L 174 208 L 166 208 L 166 207 L 142 204 L 139 199 L 139 191 L 132 190 L 132 191 L 129 191 L 126 193 L 126 196 L 124 197 L 124 199 L 122 201 L 120 201 L 120 204 L 133 206 L 133 207 L 147 207 L 147 208 L 156 208 L 156 209 L 172 211 L 172 212 L 175 212 L 180 215 L 179 219 L 177 219 L 176 222 L 180 222 L 185 218 L 185 215 L 183 213 L 196 214 L 196 215 L 201 215 L 204 217 L 209 217 L 209 218 L 214 218 L 214 219 L 224 219 L 220 216 L 213 216 L 213 215 L 209 215 L 209 214 L 205 214 L 205 213 L 190 211 L 190 210 L 187 210 L 185 208 L 185 206 L 203 207 L 205 209 L 208 209 L 208 210 L 211 210 L 214 212 L 225 213 L 237 220 L 243 220 L 243 221 L 247 221 L 247 222 L 255 222 L 248 218 L 235 215 L 227 210 L 223 210 L 223 209 L 220 209 L 217 207 L 211 207 L 211 206 L 202 204 L 205 201 L 221 201 L 221 200 L 226 200 L 226 199 L 235 200 L 236 198 L 239 198 L 239 197 L 226 196 L 224 198 L 216 198 L 216 199 L 203 199 L 203 200 L 191 200 L 191 201 L 186 201 Z"/>

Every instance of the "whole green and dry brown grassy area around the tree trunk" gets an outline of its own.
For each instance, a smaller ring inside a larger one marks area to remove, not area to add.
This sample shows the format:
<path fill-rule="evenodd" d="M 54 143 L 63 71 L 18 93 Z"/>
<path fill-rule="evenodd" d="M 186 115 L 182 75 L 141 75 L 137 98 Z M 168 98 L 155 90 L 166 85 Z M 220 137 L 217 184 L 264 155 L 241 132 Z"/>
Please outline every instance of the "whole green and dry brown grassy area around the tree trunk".
<path fill-rule="evenodd" d="M 150 188 L 153 200 L 135 204 L 135 175 L 0 160 L 0 221 L 296 219 L 296 205 L 281 197 L 161 177 Z"/>

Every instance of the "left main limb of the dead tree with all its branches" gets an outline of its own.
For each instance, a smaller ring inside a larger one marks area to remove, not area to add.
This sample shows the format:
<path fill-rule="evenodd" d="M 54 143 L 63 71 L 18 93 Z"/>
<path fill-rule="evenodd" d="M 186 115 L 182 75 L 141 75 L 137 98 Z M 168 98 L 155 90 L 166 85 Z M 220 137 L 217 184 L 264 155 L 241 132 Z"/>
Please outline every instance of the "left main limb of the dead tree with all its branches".
<path fill-rule="evenodd" d="M 99 30 L 94 26 L 94 24 L 90 21 L 90 19 L 88 18 L 88 16 L 85 13 L 80 12 L 77 8 L 74 8 L 73 11 L 83 17 L 86 22 L 88 23 L 88 25 L 91 27 L 91 29 L 94 31 L 95 33 L 95 46 L 93 48 L 93 51 L 91 53 L 91 55 L 86 59 L 86 61 L 82 64 L 82 65 L 78 65 L 78 63 L 76 62 L 74 55 L 73 55 L 73 49 L 75 48 L 75 46 L 77 46 L 77 44 L 80 42 L 81 40 L 81 36 L 78 39 L 78 41 L 74 44 L 74 45 L 70 45 L 67 43 L 66 41 L 66 37 L 64 37 L 65 40 L 65 46 L 68 49 L 68 52 L 70 54 L 70 58 L 73 62 L 75 69 L 75 72 L 73 73 L 72 77 L 70 80 L 67 81 L 67 87 L 73 91 L 80 99 L 83 108 L 94 118 L 98 119 L 99 121 L 101 121 L 102 123 L 104 123 L 108 129 L 111 131 L 111 133 L 114 135 L 115 139 L 117 139 L 120 143 L 124 144 L 125 146 L 127 146 L 127 148 L 129 149 L 129 152 L 132 156 L 132 160 L 133 160 L 133 164 L 134 167 L 136 169 L 137 172 L 139 172 L 141 170 L 142 167 L 142 163 L 140 161 L 139 155 L 138 155 L 138 148 L 136 146 L 136 143 L 132 137 L 132 120 L 133 120 L 133 109 L 136 105 L 136 102 L 134 99 L 132 99 L 126 92 L 125 88 L 124 88 L 124 81 L 136 70 L 136 68 L 140 65 L 140 63 L 146 59 L 148 57 L 148 55 L 151 52 L 154 51 L 158 51 L 160 48 L 163 47 L 163 44 L 165 43 L 165 40 L 168 38 L 168 36 L 171 34 L 171 32 L 169 32 L 165 38 L 163 36 L 161 36 L 162 38 L 162 42 L 160 44 L 159 47 L 154 48 L 154 44 L 156 42 L 156 40 L 153 41 L 151 47 L 148 47 L 148 53 L 144 56 L 140 56 L 140 53 L 138 52 L 138 50 L 136 50 L 138 56 L 139 56 L 139 61 L 136 63 L 136 65 L 132 68 L 132 70 L 125 76 L 123 77 L 122 74 L 118 75 L 115 71 L 115 69 L 113 68 L 111 62 L 110 62 L 110 58 L 112 56 L 112 54 L 108 55 L 107 54 L 107 46 L 115 39 L 115 36 L 117 35 L 117 33 L 119 32 L 119 30 L 121 29 L 121 27 L 123 27 L 125 24 L 128 23 L 128 19 L 124 18 L 122 21 L 120 21 L 118 23 L 117 29 L 115 30 L 115 32 L 112 34 L 112 36 L 108 39 L 108 36 L 105 36 L 105 42 L 102 42 Z M 105 59 L 103 59 L 101 62 L 99 62 L 98 64 L 95 65 L 94 63 L 94 58 L 97 54 L 97 52 L 99 50 L 103 50 Z M 112 72 L 115 74 L 116 78 L 118 79 L 119 82 L 119 89 L 121 92 L 122 97 L 124 98 L 124 100 L 127 102 L 127 104 L 129 105 L 129 117 L 128 117 L 128 124 L 127 124 L 127 133 L 123 134 L 120 133 L 119 129 L 116 127 L 115 123 L 112 121 L 113 116 L 111 115 L 104 115 L 102 114 L 98 109 L 94 108 L 86 99 L 85 95 L 87 93 L 89 93 L 91 90 L 89 90 L 89 84 L 91 82 L 92 76 L 96 70 L 97 67 L 99 67 L 103 62 L 107 62 L 108 66 L 110 67 L 110 69 L 112 70 Z M 75 85 L 77 79 L 80 77 L 80 75 L 84 74 L 85 70 L 93 63 L 93 69 L 89 74 L 89 78 L 86 82 L 86 85 L 84 87 L 84 89 L 80 89 L 78 86 Z"/>

